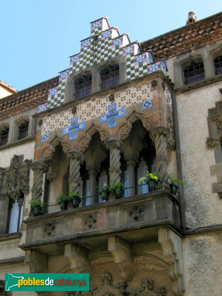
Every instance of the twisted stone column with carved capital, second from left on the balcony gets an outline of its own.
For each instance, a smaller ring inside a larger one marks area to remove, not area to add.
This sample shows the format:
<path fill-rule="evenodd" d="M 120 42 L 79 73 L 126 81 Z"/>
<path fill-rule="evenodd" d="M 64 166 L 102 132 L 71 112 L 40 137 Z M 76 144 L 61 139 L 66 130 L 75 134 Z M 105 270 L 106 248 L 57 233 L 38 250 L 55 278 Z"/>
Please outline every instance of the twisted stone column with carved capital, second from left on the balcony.
<path fill-rule="evenodd" d="M 79 192 L 80 185 L 80 165 L 83 163 L 83 154 L 78 150 L 70 151 L 67 154 L 70 159 L 70 178 L 69 178 L 69 192 Z"/>

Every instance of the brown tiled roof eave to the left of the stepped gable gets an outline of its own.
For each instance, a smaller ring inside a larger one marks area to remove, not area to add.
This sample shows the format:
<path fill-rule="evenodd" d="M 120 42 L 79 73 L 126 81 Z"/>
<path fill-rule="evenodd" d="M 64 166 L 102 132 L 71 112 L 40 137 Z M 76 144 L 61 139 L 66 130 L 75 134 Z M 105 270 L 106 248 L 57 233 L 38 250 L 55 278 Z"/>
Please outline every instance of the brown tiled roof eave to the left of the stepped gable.
<path fill-rule="evenodd" d="M 48 89 L 58 84 L 59 76 L 0 99 L 0 119 L 29 110 L 47 101 Z"/>

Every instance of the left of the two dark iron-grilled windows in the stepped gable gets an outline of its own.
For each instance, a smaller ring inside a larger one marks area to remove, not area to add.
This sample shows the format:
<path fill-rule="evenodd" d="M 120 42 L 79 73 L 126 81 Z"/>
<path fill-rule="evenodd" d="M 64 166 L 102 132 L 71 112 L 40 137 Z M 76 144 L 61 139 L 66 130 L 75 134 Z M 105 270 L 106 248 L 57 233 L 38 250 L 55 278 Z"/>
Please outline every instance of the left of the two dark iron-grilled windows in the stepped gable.
<path fill-rule="evenodd" d="M 76 78 L 74 81 L 75 85 L 75 99 L 80 99 L 84 96 L 90 95 L 92 92 L 92 76 L 83 75 L 80 78 Z"/>

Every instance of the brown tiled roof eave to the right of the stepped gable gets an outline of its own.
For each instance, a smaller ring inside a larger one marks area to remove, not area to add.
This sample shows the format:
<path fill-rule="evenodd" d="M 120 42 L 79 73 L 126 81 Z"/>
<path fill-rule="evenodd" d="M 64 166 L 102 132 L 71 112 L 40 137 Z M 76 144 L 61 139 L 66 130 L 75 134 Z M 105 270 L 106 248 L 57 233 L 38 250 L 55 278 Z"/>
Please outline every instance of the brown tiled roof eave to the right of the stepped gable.
<path fill-rule="evenodd" d="M 222 12 L 141 43 L 156 59 L 171 58 L 222 39 Z"/>

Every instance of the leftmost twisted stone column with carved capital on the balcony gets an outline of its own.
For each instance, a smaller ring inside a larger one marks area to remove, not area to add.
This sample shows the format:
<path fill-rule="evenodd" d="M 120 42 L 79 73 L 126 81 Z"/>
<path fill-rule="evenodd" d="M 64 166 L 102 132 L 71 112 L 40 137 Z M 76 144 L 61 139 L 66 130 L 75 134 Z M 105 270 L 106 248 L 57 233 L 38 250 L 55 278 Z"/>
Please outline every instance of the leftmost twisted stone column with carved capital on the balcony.
<path fill-rule="evenodd" d="M 43 161 L 35 161 L 31 164 L 31 169 L 34 171 L 32 199 L 41 200 L 42 196 L 42 180 L 44 173 L 47 172 L 48 167 Z"/>

